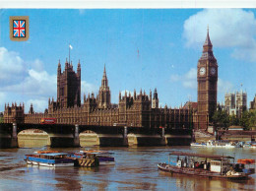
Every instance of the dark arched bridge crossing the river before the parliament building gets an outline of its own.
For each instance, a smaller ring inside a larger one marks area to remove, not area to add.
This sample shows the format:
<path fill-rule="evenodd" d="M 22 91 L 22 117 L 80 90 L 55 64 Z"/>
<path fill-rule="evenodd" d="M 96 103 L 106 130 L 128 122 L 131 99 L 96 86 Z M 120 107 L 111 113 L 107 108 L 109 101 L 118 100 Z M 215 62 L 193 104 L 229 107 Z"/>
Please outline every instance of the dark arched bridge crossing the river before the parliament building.
<path fill-rule="evenodd" d="M 52 148 L 80 147 L 79 135 L 86 131 L 92 131 L 97 134 L 99 146 L 101 147 L 127 147 L 128 134 L 133 134 L 136 137 L 137 146 L 185 146 L 192 141 L 192 133 L 189 129 L 1 123 L 0 148 L 17 148 L 18 134 L 29 129 L 46 132 L 50 139 L 49 146 Z"/>

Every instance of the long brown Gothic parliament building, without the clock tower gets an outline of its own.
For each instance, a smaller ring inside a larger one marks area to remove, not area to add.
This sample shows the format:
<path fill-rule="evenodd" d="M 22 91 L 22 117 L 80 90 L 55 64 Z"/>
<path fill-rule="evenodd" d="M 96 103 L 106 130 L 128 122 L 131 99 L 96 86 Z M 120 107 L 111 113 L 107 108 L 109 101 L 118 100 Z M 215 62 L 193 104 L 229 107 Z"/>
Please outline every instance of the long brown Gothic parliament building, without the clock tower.
<path fill-rule="evenodd" d="M 159 108 L 157 89 L 152 98 L 142 90 L 133 96 L 127 92 L 124 96 L 119 93 L 119 103 L 110 102 L 110 89 L 104 67 L 101 87 L 98 94 L 85 96 L 84 103 L 80 102 L 81 92 L 81 66 L 78 64 L 77 73 L 73 71 L 72 64 L 65 63 L 65 70 L 61 73 L 58 64 L 57 100 L 48 100 L 48 109 L 43 113 L 33 111 L 32 105 L 29 113 L 24 114 L 23 107 L 15 107 L 19 111 L 19 122 L 40 123 L 41 118 L 56 118 L 58 124 L 83 124 L 99 126 L 131 126 L 146 128 L 191 128 L 192 110 L 188 108 Z M 75 81 L 75 82 L 73 82 Z M 72 93 L 70 93 L 72 92 Z M 6 106 L 5 122 L 13 122 L 17 114 L 12 112 L 13 107 Z"/>

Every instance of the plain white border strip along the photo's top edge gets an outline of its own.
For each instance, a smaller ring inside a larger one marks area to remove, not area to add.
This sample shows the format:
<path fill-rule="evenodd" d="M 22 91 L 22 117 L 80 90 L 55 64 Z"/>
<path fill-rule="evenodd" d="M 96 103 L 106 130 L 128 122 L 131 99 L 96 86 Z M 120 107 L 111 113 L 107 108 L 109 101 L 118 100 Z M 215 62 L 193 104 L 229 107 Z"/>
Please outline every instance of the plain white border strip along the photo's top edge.
<path fill-rule="evenodd" d="M 0 8 L 69 8 L 69 9 L 167 9 L 167 8 L 256 8 L 255 0 L 0 0 Z"/>

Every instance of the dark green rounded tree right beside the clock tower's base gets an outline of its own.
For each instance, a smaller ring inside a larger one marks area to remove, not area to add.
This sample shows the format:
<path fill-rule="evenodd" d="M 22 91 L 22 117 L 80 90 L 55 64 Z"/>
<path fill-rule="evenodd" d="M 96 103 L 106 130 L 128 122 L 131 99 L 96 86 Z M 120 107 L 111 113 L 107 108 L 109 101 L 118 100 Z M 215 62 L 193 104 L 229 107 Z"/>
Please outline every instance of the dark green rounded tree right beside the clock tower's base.
<path fill-rule="evenodd" d="M 213 116 L 213 123 L 214 123 L 214 127 L 217 130 L 221 130 L 221 129 L 226 130 L 227 127 L 229 126 L 229 116 L 226 113 L 226 111 L 221 109 L 215 111 Z"/>

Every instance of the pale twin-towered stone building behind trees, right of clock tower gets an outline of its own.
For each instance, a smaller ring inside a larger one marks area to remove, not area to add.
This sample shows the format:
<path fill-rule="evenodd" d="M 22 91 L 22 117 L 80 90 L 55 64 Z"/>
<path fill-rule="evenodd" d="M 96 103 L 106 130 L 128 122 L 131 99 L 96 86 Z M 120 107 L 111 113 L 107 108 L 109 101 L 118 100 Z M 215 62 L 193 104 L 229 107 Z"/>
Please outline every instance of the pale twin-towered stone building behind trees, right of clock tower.
<path fill-rule="evenodd" d="M 241 116 L 241 113 L 247 109 L 247 94 L 236 92 L 224 95 L 224 109 L 229 115 Z"/>

